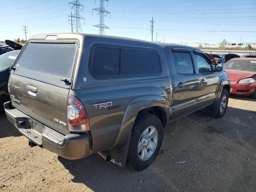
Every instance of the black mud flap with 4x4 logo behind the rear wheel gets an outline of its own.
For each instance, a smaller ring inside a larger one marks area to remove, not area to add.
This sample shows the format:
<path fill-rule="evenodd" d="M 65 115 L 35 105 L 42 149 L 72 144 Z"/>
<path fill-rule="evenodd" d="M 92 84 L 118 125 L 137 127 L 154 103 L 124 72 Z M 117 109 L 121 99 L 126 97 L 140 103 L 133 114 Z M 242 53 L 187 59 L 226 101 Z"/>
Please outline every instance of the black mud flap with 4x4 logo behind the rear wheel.
<path fill-rule="evenodd" d="M 110 150 L 110 156 L 113 164 L 118 166 L 121 169 L 125 168 L 126 165 L 126 160 L 127 160 L 127 155 L 128 155 L 128 150 L 129 150 L 129 145 L 130 145 L 130 139 L 131 139 L 131 134 L 126 141 L 126 144 L 124 144 L 120 148 L 112 149 Z"/>

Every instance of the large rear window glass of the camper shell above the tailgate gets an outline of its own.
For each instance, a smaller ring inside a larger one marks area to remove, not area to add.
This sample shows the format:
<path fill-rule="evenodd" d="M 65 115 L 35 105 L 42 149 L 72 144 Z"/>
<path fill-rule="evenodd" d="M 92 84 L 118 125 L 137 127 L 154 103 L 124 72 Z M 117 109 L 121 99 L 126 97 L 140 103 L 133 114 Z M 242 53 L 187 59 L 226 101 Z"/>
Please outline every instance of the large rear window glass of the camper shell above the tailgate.
<path fill-rule="evenodd" d="M 28 44 L 16 68 L 70 78 L 76 58 L 76 44 Z"/>

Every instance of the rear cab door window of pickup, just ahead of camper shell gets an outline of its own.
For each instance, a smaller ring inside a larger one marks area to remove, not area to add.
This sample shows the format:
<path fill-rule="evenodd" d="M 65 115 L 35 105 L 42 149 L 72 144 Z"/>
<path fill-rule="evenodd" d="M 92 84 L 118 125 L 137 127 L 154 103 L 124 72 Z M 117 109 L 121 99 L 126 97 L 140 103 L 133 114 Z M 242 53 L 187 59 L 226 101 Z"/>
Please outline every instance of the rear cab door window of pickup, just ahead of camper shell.
<path fill-rule="evenodd" d="M 173 52 L 175 70 L 182 74 L 193 74 L 194 67 L 190 52 Z"/>

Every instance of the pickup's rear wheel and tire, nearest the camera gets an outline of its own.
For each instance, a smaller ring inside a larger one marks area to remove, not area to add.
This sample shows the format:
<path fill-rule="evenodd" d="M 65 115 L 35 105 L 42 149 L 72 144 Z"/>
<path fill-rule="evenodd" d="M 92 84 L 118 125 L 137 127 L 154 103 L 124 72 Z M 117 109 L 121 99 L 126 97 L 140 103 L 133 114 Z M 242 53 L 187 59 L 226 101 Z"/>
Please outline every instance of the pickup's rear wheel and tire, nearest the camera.
<path fill-rule="evenodd" d="M 135 170 L 143 170 L 154 162 L 159 153 L 162 138 L 162 122 L 152 114 L 138 114 L 128 150 L 128 165 Z"/>

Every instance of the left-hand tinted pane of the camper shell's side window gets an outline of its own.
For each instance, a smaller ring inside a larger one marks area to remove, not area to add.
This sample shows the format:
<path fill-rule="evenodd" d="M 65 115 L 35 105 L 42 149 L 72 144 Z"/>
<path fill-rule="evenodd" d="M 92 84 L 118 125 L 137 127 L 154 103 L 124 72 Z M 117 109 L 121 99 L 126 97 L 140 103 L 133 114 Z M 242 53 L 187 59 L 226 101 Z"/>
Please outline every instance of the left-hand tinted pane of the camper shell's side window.
<path fill-rule="evenodd" d="M 120 73 L 120 49 L 95 47 L 92 56 L 92 73 L 96 76 L 116 76 Z"/>

